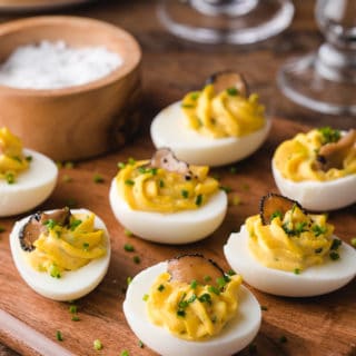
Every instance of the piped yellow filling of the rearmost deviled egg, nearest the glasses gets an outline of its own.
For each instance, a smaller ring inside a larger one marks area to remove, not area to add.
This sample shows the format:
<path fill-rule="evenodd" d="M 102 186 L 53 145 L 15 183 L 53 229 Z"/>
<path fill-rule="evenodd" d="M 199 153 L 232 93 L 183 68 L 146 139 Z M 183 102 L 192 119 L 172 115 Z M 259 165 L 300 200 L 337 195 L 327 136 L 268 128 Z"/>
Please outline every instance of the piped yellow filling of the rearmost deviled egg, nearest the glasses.
<path fill-rule="evenodd" d="M 216 93 L 212 85 L 187 93 L 181 108 L 190 129 L 215 138 L 249 135 L 266 120 L 256 93 L 245 98 L 235 88 Z"/>

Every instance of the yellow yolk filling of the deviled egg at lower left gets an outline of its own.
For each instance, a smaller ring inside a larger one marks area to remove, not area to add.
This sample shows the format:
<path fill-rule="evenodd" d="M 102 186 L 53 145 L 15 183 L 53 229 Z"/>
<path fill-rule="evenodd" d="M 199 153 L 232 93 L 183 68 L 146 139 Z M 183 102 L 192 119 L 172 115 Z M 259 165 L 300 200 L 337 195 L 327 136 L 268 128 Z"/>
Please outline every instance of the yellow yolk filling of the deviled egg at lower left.
<path fill-rule="evenodd" d="M 95 228 L 93 214 L 75 214 L 69 227 L 46 222 L 47 230 L 33 243 L 36 249 L 23 253 L 33 269 L 60 278 L 63 270 L 76 270 L 107 254 L 106 237 Z"/>

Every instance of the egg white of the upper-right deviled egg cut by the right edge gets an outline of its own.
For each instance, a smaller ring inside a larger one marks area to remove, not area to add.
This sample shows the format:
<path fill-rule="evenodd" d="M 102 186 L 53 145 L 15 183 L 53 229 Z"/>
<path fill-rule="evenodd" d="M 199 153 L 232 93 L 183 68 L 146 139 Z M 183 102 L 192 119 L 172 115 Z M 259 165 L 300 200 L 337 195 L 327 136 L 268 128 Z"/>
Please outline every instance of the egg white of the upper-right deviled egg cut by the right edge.
<path fill-rule="evenodd" d="M 327 181 L 293 181 L 283 177 L 274 160 L 271 170 L 279 191 L 297 200 L 305 209 L 335 210 L 356 202 L 356 175 Z"/>

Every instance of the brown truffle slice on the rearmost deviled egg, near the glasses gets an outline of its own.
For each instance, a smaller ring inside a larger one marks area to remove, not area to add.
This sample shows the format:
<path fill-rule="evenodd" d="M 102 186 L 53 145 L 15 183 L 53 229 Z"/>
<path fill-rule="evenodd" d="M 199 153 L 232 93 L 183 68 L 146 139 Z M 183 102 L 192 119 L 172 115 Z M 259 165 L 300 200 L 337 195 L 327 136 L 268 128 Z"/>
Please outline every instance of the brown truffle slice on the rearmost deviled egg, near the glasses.
<path fill-rule="evenodd" d="M 217 93 L 231 88 L 237 89 L 237 93 L 243 97 L 249 93 L 244 76 L 233 70 L 216 72 L 207 79 L 206 83 L 214 85 Z"/>

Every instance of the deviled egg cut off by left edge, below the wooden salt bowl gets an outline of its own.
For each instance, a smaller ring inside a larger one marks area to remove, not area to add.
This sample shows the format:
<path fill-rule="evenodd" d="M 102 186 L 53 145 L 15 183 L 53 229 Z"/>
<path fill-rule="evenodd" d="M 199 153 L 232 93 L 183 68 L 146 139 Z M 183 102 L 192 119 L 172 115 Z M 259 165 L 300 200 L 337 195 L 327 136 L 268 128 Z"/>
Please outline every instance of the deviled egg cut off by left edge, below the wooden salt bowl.
<path fill-rule="evenodd" d="M 0 128 L 0 217 L 28 211 L 44 201 L 58 169 L 48 157 L 23 149 L 8 128 Z"/>

